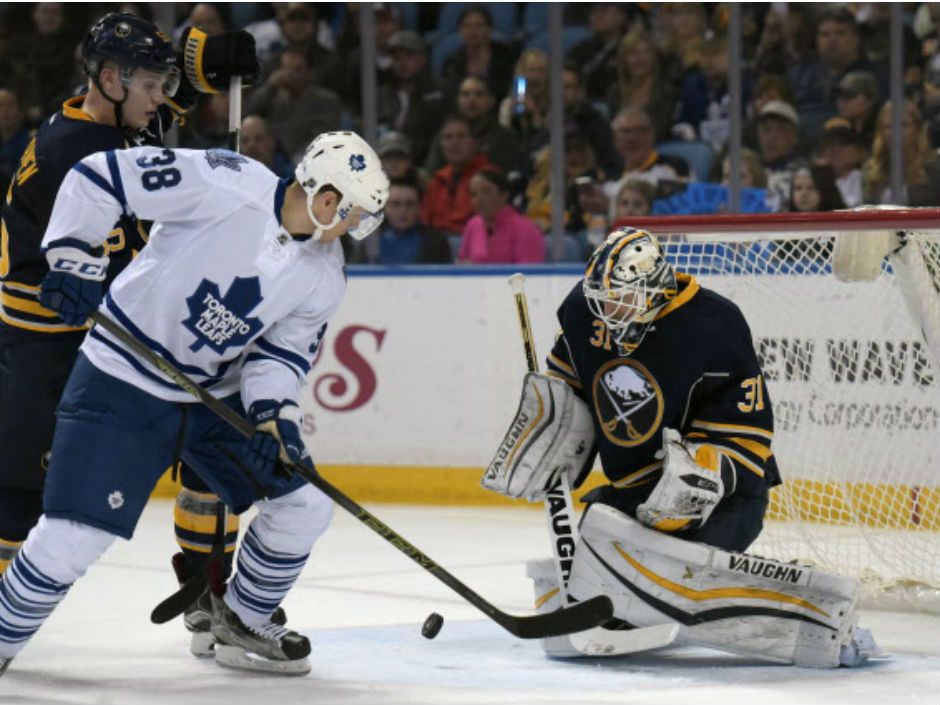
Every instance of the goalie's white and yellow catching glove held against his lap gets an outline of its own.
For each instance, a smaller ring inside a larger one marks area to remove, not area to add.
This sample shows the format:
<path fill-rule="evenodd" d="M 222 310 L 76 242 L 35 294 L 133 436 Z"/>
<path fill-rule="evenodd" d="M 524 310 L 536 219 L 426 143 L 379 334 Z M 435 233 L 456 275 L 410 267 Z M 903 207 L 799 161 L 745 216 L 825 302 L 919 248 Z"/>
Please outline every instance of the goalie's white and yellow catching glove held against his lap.
<path fill-rule="evenodd" d="M 660 531 L 697 529 L 724 497 L 734 492 L 731 460 L 715 446 L 688 443 L 663 429 L 663 474 L 636 510 L 636 518 Z"/>

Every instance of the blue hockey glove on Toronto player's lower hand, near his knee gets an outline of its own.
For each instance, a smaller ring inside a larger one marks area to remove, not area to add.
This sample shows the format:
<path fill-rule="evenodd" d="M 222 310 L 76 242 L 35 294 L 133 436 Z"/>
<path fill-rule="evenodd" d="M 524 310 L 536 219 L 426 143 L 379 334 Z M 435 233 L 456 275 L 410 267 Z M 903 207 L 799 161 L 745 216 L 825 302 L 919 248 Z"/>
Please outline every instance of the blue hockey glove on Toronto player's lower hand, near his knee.
<path fill-rule="evenodd" d="M 292 401 L 272 399 L 256 401 L 248 409 L 255 432 L 248 439 L 248 463 L 259 475 L 266 476 L 283 465 L 303 465 L 313 470 L 313 460 L 300 435 L 303 414 Z"/>

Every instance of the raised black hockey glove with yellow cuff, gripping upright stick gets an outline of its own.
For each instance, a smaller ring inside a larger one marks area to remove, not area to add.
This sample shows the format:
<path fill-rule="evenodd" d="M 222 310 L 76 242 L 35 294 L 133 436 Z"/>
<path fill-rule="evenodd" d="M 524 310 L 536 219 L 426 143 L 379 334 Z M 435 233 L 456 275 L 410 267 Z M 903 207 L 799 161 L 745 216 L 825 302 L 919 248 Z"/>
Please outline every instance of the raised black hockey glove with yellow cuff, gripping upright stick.
<path fill-rule="evenodd" d="M 248 86 L 261 76 L 255 38 L 244 30 L 207 35 L 196 27 L 187 27 L 182 50 L 183 74 L 200 93 L 228 91 L 232 76 L 241 76 Z"/>

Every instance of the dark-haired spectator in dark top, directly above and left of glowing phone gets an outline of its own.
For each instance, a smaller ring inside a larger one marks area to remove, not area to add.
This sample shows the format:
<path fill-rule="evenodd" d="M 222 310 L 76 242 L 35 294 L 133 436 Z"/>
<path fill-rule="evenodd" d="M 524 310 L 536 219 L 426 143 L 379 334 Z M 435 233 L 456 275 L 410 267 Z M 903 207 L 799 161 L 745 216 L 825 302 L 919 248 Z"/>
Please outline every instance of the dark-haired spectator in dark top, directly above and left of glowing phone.
<path fill-rule="evenodd" d="M 458 23 L 463 46 L 444 60 L 443 76 L 453 95 L 463 79 L 475 76 L 486 81 L 490 93 L 502 100 L 512 80 L 515 53 L 507 44 L 493 41 L 493 18 L 483 5 L 469 5 Z"/>

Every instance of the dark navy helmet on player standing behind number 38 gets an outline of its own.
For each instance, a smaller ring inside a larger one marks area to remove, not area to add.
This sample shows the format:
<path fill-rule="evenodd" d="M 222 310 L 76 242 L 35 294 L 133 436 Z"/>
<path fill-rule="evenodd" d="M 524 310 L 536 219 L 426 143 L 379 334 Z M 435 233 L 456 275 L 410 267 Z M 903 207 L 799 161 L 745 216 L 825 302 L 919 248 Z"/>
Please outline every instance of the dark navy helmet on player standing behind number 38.
<path fill-rule="evenodd" d="M 179 87 L 173 41 L 155 24 L 143 17 L 112 12 L 92 25 L 82 42 L 85 72 L 95 83 L 105 61 L 113 61 L 120 70 L 121 82 L 130 83 L 135 69 L 164 74 L 164 93 L 172 96 Z"/>

